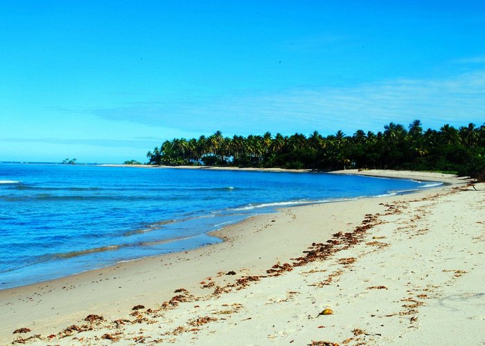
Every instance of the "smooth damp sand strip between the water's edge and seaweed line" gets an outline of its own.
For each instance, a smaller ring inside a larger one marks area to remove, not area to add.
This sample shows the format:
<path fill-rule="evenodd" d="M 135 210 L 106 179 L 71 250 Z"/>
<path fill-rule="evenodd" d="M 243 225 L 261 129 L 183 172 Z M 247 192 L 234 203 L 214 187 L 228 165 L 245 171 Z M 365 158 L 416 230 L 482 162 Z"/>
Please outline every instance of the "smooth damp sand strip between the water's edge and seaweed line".
<path fill-rule="evenodd" d="M 358 172 L 358 174 L 361 173 Z M 374 174 L 377 173 L 374 172 Z M 344 174 L 351 174 L 351 172 L 344 171 Z M 415 177 L 414 174 L 412 176 Z M 434 180 L 436 176 L 424 174 L 421 178 L 424 178 L 421 180 Z M 449 176 L 443 182 L 464 184 L 464 181 L 451 179 Z M 326 242 L 332 232 L 335 233 L 342 227 L 354 227 L 362 221 L 367 212 L 382 209 L 379 202 L 391 203 L 397 199 L 415 199 L 433 194 L 437 190 L 448 190 L 452 186 L 441 185 L 439 188 L 402 196 L 279 208 L 278 214 L 250 217 L 241 223 L 212 232 L 211 235 L 224 240 L 220 244 L 183 253 L 144 257 L 70 277 L 2 290 L 0 301 L 6 306 L 10 305 L 10 313 L 5 313 L 1 317 L 0 340 L 2 342 L 12 340 L 11 333 L 16 328 L 28 327 L 37 334 L 45 334 L 47 331 L 62 329 L 72 322 L 78 322 L 89 313 L 100 313 L 99 311 L 104 311 L 105 318 L 127 315 L 136 302 L 143 301 L 143 304 L 148 305 L 159 304 L 163 300 L 170 299 L 173 291 L 181 285 L 193 294 L 206 293 L 206 288 L 201 288 L 198 282 L 224 271 L 236 270 L 238 278 L 241 275 L 261 275 L 275 262 L 288 261 L 289 258 L 298 256 L 316 240 L 315 231 L 319 226 L 317 222 L 317 228 L 315 228 L 316 216 L 321 218 L 327 213 L 327 219 L 333 218 L 332 222 L 326 225 L 327 232 L 319 234 L 319 241 Z M 307 226 L 304 226 L 305 222 Z M 272 244 L 274 244 L 275 234 L 271 234 L 270 230 L 280 224 L 285 228 L 285 232 L 277 233 L 279 247 L 274 249 Z M 298 228 L 311 229 L 295 239 L 292 224 L 299 224 Z M 256 255 L 258 258 L 254 258 L 254 254 L 260 256 Z M 100 279 L 100 276 L 103 279 Z M 167 277 L 171 278 L 167 279 Z M 220 275 L 219 280 L 220 284 L 227 284 L 233 282 L 235 277 Z M 137 282 L 143 282 L 144 286 L 140 287 Z M 93 291 L 97 292 L 96 296 L 93 296 L 96 294 Z M 42 299 L 36 300 L 37 296 L 42 296 Z M 64 302 L 64 305 L 60 306 L 58 302 Z M 34 313 L 32 307 L 35 307 Z"/>

